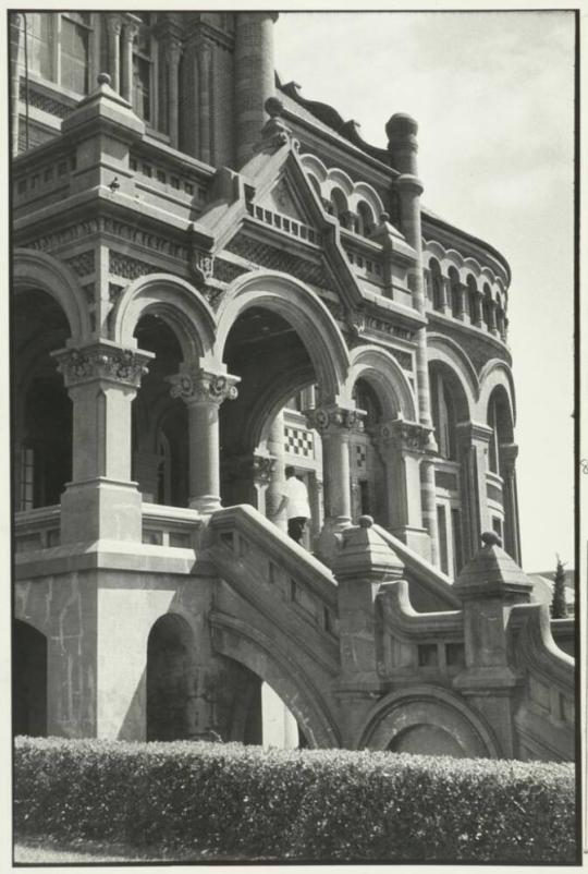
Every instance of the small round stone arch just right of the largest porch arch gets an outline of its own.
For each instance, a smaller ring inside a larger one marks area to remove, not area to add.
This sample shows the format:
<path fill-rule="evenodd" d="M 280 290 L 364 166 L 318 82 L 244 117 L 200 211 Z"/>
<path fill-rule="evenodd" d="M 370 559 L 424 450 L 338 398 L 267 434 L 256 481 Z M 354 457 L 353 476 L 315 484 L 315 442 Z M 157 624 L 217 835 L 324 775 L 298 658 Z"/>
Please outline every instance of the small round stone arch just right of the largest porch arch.
<path fill-rule="evenodd" d="M 376 345 L 356 347 L 351 352 L 346 393 L 358 379 L 366 379 L 376 390 L 385 418 L 396 418 L 399 412 L 416 422 L 415 398 L 406 375 L 394 356 Z"/>

